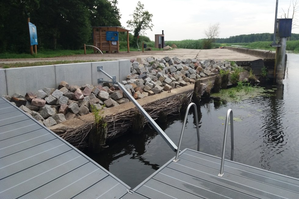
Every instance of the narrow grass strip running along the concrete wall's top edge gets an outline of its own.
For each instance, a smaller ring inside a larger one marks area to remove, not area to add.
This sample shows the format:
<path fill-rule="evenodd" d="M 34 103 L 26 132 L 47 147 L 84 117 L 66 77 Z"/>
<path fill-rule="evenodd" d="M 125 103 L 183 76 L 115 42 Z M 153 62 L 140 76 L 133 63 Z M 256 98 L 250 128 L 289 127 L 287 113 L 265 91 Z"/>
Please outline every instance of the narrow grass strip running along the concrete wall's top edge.
<path fill-rule="evenodd" d="M 73 64 L 73 63 L 95 62 L 95 61 L 108 61 L 108 60 L 105 60 L 105 59 L 101 59 L 101 60 L 73 60 L 73 61 L 61 60 L 61 61 L 20 62 L 20 63 L 11 63 L 11 64 L 2 64 L 2 63 L 0 63 L 0 68 L 19 68 L 19 67 L 27 67 L 27 66 Z"/>

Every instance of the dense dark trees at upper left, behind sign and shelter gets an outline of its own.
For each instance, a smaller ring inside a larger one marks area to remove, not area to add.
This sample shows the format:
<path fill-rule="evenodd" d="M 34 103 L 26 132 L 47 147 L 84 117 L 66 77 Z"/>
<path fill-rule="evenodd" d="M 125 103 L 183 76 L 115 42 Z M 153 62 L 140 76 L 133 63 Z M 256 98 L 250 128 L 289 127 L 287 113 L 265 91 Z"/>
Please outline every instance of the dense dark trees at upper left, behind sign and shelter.
<path fill-rule="evenodd" d="M 78 49 L 92 42 L 92 26 L 121 26 L 117 0 L 1 1 L 0 53 L 29 51 L 28 17 L 40 49 Z"/>

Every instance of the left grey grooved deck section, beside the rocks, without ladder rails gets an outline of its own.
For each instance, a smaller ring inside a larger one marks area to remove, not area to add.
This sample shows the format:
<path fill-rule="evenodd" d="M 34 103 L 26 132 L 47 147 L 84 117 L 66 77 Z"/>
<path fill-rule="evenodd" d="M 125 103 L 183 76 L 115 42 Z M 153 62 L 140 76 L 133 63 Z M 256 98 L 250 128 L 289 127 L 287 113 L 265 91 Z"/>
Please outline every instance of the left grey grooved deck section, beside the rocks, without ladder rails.
<path fill-rule="evenodd" d="M 121 198 L 130 189 L 0 98 L 0 198 Z"/>

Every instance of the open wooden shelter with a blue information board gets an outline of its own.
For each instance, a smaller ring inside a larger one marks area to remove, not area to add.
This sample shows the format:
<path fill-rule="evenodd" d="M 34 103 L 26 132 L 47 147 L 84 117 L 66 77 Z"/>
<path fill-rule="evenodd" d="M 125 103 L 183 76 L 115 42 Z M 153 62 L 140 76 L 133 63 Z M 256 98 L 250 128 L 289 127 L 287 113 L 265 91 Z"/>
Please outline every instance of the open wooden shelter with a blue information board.
<path fill-rule="evenodd" d="M 129 46 L 129 32 L 131 30 L 124 29 L 120 26 L 94 26 L 93 28 L 93 45 L 106 53 L 119 52 L 119 32 L 127 32 L 127 46 Z M 96 49 L 94 49 L 96 52 Z"/>

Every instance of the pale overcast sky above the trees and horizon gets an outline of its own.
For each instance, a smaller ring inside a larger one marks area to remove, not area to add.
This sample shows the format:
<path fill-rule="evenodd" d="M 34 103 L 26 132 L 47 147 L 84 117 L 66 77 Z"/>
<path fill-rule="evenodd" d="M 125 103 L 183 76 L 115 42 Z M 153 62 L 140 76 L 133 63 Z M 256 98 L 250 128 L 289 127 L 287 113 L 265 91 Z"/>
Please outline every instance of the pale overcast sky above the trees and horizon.
<path fill-rule="evenodd" d="M 129 15 L 137 2 L 118 0 L 123 27 L 128 28 L 126 22 L 133 19 Z M 141 0 L 141 3 L 153 14 L 153 31 L 147 30 L 145 34 L 151 40 L 162 30 L 165 40 L 202 39 L 204 30 L 215 23 L 220 24 L 219 38 L 274 32 L 276 0 Z M 286 11 L 289 5 L 290 0 L 279 0 L 279 18 L 282 9 Z M 292 33 L 299 33 L 299 28 Z"/>

